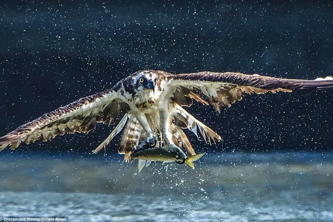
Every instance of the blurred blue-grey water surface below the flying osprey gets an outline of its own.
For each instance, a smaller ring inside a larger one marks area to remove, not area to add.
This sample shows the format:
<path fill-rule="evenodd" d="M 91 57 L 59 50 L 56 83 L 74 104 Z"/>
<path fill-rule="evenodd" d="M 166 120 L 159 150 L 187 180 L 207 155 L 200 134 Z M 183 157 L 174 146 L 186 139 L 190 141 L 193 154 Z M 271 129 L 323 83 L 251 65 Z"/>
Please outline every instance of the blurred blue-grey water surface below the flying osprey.
<path fill-rule="evenodd" d="M 333 220 L 332 153 L 208 153 L 194 170 L 156 162 L 137 174 L 121 157 L 1 155 L 0 217 Z"/>

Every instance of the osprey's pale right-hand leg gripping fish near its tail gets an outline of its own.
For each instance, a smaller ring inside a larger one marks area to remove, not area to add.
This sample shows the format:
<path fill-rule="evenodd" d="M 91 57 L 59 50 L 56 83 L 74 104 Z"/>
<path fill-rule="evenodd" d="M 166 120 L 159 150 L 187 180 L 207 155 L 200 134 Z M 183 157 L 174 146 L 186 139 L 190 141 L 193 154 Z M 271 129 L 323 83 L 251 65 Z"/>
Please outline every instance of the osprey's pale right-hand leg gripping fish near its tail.
<path fill-rule="evenodd" d="M 165 142 L 169 146 L 171 152 L 176 152 L 179 155 L 180 160 L 186 159 L 187 155 L 182 151 L 181 148 L 173 144 L 172 135 L 170 133 L 170 121 L 169 121 L 169 112 L 167 109 L 160 110 L 160 122 L 161 122 L 161 131 L 162 136 L 165 139 Z"/>

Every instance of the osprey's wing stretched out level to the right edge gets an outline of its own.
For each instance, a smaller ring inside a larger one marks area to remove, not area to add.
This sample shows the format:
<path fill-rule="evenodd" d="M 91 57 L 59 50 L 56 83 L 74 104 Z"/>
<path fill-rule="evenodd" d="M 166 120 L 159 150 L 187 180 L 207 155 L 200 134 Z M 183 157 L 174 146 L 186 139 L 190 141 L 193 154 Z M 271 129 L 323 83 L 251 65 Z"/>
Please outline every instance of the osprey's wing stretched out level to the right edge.
<path fill-rule="evenodd" d="M 333 89 L 333 78 L 317 78 L 316 80 L 301 80 L 273 78 L 258 74 L 241 74 L 236 72 L 198 72 L 193 74 L 164 75 L 166 83 L 162 96 L 181 105 L 191 105 L 192 99 L 200 101 L 200 92 L 205 95 L 210 104 L 219 111 L 220 107 L 230 107 L 240 101 L 242 95 L 263 94 L 266 92 L 292 92 L 302 89 Z M 200 101 L 203 103 L 203 101 Z"/>

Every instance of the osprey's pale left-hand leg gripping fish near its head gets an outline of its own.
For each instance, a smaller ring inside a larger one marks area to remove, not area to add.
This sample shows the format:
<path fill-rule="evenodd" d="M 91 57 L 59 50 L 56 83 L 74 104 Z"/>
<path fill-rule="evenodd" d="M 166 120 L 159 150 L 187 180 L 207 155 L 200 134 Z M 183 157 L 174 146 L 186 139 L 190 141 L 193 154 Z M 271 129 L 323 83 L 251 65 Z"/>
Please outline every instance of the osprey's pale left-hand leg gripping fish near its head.
<path fill-rule="evenodd" d="M 144 141 L 144 143 L 139 144 L 137 147 L 135 147 L 135 149 L 155 147 L 157 144 L 157 138 L 155 137 L 155 135 L 153 135 L 153 130 L 151 130 L 151 127 L 149 126 L 146 116 L 143 113 L 138 112 L 137 114 L 135 114 L 135 117 L 137 118 L 137 121 L 139 121 L 140 125 L 146 132 L 146 140 Z"/>

